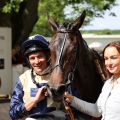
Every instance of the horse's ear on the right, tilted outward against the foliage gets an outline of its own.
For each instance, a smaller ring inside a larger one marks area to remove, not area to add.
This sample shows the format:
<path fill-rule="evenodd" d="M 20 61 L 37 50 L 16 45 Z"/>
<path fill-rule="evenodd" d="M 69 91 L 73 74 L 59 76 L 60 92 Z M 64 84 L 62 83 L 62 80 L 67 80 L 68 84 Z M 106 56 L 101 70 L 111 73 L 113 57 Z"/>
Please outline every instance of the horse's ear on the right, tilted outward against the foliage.
<path fill-rule="evenodd" d="M 84 22 L 85 16 L 86 11 L 84 10 L 82 14 L 73 22 L 73 28 L 79 29 Z"/>

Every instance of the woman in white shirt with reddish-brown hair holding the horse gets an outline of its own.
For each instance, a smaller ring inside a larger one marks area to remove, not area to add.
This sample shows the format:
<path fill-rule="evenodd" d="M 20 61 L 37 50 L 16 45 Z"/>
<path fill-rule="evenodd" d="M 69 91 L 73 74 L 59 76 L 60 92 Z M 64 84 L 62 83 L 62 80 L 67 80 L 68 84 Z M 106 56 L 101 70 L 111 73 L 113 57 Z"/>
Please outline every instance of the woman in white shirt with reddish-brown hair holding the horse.
<path fill-rule="evenodd" d="M 65 93 L 66 101 L 90 116 L 120 120 L 120 41 L 109 43 L 103 50 L 103 57 L 111 78 L 105 82 L 97 102 L 88 103 Z"/>

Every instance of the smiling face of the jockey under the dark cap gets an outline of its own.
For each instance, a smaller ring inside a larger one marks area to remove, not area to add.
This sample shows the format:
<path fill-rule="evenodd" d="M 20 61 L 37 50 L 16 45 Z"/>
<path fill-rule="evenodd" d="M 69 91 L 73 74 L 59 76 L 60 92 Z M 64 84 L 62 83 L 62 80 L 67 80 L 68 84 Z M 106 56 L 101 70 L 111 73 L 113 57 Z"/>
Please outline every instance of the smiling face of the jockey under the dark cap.
<path fill-rule="evenodd" d="M 47 59 L 44 52 L 32 53 L 28 56 L 28 60 L 37 74 L 40 74 L 47 68 Z"/>

